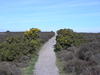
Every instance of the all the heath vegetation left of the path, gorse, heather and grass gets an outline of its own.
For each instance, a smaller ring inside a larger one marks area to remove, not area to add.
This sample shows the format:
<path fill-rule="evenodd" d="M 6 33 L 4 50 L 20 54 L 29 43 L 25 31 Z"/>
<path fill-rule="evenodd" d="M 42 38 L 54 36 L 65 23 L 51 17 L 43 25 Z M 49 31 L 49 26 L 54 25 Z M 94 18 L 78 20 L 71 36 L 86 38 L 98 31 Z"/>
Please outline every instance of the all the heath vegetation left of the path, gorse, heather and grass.
<path fill-rule="evenodd" d="M 0 33 L 0 75 L 33 75 L 38 51 L 52 36 L 54 32 L 41 32 L 37 28 Z"/>

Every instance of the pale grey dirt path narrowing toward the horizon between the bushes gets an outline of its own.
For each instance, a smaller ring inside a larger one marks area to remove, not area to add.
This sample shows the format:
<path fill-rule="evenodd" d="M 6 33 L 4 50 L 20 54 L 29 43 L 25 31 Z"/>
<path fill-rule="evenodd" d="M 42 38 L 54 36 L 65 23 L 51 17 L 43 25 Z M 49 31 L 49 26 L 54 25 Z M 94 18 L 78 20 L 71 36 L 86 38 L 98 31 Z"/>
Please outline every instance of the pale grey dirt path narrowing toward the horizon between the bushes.
<path fill-rule="evenodd" d="M 41 48 L 38 61 L 35 65 L 34 75 L 59 75 L 54 52 L 55 44 L 56 41 L 54 36 Z"/>

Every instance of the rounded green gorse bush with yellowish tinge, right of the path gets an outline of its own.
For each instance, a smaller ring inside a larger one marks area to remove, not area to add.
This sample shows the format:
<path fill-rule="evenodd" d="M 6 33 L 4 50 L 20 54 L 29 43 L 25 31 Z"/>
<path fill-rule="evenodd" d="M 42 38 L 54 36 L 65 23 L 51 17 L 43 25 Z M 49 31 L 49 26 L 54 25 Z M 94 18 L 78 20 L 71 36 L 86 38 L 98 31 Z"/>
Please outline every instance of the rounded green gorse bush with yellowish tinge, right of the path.
<path fill-rule="evenodd" d="M 72 29 L 60 29 L 57 31 L 57 34 L 57 44 L 55 45 L 55 51 L 67 49 L 72 45 L 78 46 L 85 42 L 83 37 L 80 34 L 74 32 Z"/>

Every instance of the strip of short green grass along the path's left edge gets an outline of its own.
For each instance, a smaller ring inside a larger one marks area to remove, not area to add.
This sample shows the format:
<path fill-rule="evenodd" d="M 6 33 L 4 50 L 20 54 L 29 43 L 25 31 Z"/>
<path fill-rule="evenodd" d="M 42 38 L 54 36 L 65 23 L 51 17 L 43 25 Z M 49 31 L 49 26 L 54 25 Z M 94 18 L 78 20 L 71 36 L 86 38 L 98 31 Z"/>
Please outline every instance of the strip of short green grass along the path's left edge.
<path fill-rule="evenodd" d="M 30 60 L 29 65 L 22 69 L 22 75 L 33 75 L 37 58 L 38 58 L 37 55 L 32 56 L 32 59 Z"/>

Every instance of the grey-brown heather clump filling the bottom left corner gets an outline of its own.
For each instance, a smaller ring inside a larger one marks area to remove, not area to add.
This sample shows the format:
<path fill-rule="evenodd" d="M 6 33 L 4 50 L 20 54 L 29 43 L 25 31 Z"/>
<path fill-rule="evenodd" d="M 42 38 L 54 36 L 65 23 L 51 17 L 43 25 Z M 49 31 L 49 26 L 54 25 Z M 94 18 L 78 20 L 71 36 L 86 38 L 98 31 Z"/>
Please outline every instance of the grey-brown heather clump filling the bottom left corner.
<path fill-rule="evenodd" d="M 1 62 L 0 75 L 22 75 L 20 69 L 13 63 Z"/>

